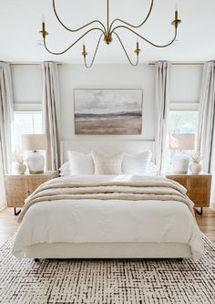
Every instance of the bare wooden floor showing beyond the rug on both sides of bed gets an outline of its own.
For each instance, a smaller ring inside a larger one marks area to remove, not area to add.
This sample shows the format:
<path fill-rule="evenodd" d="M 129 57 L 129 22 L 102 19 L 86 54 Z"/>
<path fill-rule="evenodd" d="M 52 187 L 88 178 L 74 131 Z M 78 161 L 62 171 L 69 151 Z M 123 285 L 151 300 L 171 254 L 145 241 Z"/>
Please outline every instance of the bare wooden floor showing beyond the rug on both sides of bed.
<path fill-rule="evenodd" d="M 200 230 L 215 244 L 215 212 L 210 208 L 205 208 L 203 215 L 197 214 L 196 218 Z M 16 219 L 13 208 L 6 208 L 0 212 L 0 246 L 17 230 Z"/>

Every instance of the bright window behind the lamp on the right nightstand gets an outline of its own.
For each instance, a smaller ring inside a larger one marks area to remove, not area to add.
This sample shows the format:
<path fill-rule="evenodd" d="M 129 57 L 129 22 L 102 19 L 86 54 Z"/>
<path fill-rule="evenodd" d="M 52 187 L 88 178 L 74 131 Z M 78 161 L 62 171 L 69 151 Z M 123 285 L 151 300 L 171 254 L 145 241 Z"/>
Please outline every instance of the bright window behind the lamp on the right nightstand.
<path fill-rule="evenodd" d="M 171 134 L 194 134 L 195 149 L 197 146 L 197 133 L 199 122 L 198 103 L 170 104 L 169 110 L 169 139 Z M 190 152 L 190 151 L 186 151 Z M 167 170 L 171 170 L 171 158 L 174 150 L 168 149 Z"/>

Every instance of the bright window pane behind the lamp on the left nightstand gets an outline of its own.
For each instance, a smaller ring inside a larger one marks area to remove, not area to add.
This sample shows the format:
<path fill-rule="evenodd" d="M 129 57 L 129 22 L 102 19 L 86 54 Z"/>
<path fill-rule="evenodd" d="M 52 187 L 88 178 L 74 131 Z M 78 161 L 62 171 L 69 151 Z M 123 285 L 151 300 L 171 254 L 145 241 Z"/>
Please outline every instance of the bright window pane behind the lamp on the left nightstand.
<path fill-rule="evenodd" d="M 22 134 L 42 134 L 42 111 L 15 111 L 15 148 L 22 146 Z"/>

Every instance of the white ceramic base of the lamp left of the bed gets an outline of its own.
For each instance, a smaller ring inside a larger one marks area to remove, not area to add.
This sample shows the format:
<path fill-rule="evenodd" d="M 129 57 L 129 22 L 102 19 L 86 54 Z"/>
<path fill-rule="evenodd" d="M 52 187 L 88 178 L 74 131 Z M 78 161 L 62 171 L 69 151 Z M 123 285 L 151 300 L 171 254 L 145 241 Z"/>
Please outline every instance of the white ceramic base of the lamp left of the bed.
<path fill-rule="evenodd" d="M 38 174 L 44 173 L 45 159 L 44 156 L 38 152 L 31 152 L 26 160 L 29 173 Z"/>

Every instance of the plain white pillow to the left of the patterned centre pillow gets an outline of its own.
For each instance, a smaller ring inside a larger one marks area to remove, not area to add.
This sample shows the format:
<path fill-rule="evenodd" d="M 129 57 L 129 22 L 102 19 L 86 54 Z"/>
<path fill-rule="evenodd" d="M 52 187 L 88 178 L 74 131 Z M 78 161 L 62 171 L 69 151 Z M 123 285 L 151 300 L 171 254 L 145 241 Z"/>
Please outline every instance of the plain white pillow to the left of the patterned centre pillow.
<path fill-rule="evenodd" d="M 67 151 L 71 175 L 94 174 L 92 155 L 75 151 Z"/>

